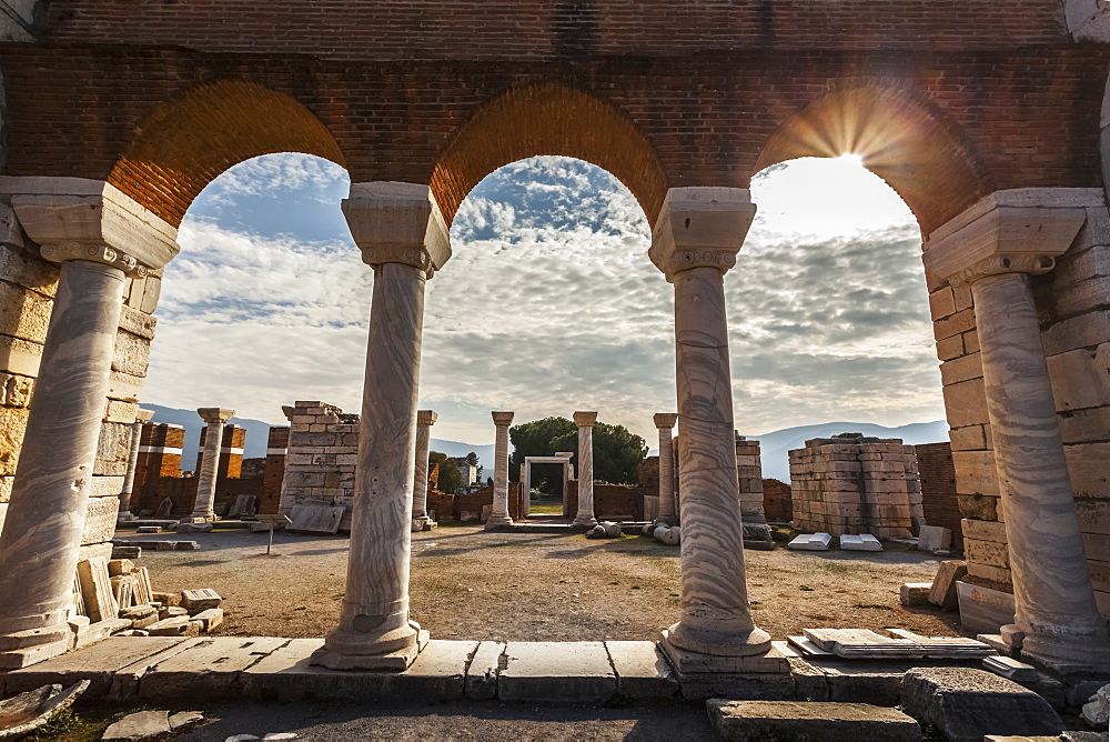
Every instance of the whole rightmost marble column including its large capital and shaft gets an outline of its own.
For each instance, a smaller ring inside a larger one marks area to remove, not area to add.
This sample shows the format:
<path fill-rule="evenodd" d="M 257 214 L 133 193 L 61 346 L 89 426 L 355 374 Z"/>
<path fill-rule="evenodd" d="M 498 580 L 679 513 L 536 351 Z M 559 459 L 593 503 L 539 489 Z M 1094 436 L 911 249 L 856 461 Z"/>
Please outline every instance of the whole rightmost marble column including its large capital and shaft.
<path fill-rule="evenodd" d="M 1067 204 L 1070 189 L 1045 189 Z M 1016 205 L 1010 205 L 1016 203 Z M 1110 666 L 1083 554 L 1029 275 L 1050 271 L 1086 220 L 998 191 L 932 232 L 926 269 L 970 284 L 1022 656 L 1061 672 Z"/>

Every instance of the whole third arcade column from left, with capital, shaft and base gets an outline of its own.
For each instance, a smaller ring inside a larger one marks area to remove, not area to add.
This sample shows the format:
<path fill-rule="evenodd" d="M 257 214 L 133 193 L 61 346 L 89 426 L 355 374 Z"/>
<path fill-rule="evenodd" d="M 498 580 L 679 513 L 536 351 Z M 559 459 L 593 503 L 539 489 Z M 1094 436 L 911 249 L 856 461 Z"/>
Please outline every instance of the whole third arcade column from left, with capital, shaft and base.
<path fill-rule="evenodd" d="M 656 222 L 652 261 L 675 285 L 682 619 L 663 646 L 679 672 L 784 670 L 748 610 L 736 481 L 724 274 L 736 263 L 755 205 L 735 188 L 673 188 Z"/>

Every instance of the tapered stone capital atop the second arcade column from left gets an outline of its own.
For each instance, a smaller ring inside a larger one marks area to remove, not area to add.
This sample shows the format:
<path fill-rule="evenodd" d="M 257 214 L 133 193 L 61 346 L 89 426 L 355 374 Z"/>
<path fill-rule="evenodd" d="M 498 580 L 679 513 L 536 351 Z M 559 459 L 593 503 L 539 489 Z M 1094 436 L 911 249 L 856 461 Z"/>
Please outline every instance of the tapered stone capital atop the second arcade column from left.
<path fill-rule="evenodd" d="M 342 205 L 367 265 L 403 263 L 431 278 L 451 258 L 447 223 L 427 186 L 351 183 L 351 194 Z"/>

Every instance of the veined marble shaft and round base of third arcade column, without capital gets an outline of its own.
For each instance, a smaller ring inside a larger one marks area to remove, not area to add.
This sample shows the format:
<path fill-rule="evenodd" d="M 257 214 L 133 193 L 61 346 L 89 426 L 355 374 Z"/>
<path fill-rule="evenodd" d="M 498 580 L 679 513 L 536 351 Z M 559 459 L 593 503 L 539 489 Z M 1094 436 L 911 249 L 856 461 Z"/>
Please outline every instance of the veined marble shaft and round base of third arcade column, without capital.
<path fill-rule="evenodd" d="M 693 268 L 674 284 L 683 613 L 667 639 L 707 654 L 761 653 L 770 636 L 748 610 L 724 277 Z"/>

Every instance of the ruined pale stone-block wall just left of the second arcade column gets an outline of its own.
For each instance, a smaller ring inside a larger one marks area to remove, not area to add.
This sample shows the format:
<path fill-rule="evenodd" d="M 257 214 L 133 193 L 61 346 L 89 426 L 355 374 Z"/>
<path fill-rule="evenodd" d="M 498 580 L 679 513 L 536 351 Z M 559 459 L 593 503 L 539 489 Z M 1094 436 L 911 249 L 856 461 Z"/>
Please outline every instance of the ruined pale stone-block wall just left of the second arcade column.
<path fill-rule="evenodd" d="M 339 505 L 346 508 L 340 528 L 350 528 L 359 415 L 324 402 L 295 402 L 287 451 L 281 512 L 302 502 Z"/>

